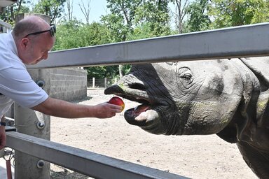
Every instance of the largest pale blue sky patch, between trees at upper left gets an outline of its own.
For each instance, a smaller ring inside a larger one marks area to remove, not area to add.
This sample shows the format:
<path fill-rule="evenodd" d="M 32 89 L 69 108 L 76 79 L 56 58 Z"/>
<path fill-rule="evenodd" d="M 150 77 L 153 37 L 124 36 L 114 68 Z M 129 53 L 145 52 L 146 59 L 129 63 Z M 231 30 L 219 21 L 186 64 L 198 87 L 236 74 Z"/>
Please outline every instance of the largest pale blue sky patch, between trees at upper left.
<path fill-rule="evenodd" d="M 88 0 L 73 0 L 73 17 L 76 17 L 78 20 L 85 22 L 85 16 L 81 12 L 81 8 L 78 6 L 78 3 L 83 1 L 84 5 L 87 6 Z M 66 12 L 67 12 L 67 7 Z M 91 0 L 90 1 L 90 23 L 99 22 L 101 15 L 106 15 L 106 0 Z"/>

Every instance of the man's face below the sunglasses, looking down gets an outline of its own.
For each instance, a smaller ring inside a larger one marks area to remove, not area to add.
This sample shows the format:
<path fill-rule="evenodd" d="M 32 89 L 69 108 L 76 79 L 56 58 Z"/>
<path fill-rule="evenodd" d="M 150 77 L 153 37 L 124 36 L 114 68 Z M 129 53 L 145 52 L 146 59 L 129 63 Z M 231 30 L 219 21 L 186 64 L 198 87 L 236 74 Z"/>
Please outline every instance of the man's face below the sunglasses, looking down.
<path fill-rule="evenodd" d="M 37 36 L 29 36 L 25 39 L 27 46 L 20 59 L 24 64 L 37 64 L 42 59 L 48 58 L 48 52 L 53 48 L 55 37 L 51 37 L 49 32 Z"/>

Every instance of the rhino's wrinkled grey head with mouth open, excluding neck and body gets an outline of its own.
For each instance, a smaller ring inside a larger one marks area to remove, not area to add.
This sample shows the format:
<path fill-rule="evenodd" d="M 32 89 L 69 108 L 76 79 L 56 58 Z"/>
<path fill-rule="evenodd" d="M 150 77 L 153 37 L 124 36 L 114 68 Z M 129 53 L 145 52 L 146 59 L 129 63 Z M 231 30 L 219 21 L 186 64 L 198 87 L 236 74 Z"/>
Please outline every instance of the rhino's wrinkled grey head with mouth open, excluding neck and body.
<path fill-rule="evenodd" d="M 153 134 L 216 134 L 232 120 L 243 83 L 228 59 L 136 64 L 104 93 L 142 103 L 125 120 Z"/>

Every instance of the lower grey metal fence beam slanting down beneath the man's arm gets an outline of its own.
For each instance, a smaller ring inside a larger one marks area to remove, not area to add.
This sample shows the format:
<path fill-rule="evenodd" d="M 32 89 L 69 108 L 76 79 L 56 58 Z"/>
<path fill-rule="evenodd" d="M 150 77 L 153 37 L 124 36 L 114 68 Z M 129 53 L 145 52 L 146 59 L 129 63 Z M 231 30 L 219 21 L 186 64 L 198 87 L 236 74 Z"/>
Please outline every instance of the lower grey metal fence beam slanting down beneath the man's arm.
<path fill-rule="evenodd" d="M 72 148 L 68 145 L 46 141 L 34 136 L 28 136 L 15 131 L 6 133 L 6 145 L 38 157 L 67 169 L 78 171 L 93 178 L 128 178 L 128 179 L 184 179 L 173 173 L 167 173 L 139 164 L 133 164 L 120 159 L 114 159 L 94 152 Z M 186 178 L 185 178 L 186 179 Z"/>

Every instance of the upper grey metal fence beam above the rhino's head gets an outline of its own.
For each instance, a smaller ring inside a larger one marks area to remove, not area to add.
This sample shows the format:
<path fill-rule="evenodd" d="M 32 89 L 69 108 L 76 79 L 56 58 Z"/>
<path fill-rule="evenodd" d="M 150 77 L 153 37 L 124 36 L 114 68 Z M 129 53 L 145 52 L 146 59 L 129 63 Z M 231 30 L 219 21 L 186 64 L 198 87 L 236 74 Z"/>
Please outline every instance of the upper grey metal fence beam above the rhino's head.
<path fill-rule="evenodd" d="M 269 55 L 269 23 L 50 52 L 28 69 Z"/>

